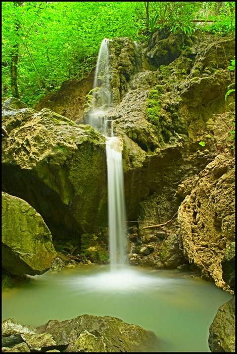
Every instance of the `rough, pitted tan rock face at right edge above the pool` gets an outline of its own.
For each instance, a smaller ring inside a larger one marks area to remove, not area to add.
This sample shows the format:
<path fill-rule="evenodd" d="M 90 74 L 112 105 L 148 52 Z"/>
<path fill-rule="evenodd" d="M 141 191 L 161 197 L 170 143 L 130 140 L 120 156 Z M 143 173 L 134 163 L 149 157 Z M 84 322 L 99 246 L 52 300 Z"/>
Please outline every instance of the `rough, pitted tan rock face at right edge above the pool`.
<path fill-rule="evenodd" d="M 234 157 L 226 150 L 200 172 L 196 186 L 178 211 L 189 262 L 197 264 L 205 278 L 213 278 L 225 290 L 230 288 L 223 280 L 221 262 L 235 237 L 234 179 Z"/>

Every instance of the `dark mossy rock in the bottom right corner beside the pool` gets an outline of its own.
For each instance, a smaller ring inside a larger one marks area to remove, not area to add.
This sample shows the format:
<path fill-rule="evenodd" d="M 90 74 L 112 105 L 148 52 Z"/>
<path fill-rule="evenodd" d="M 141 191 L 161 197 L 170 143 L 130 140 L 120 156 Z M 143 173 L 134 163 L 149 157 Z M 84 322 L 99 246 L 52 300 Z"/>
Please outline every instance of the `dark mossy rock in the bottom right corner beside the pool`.
<path fill-rule="evenodd" d="M 208 343 L 212 352 L 235 352 L 235 297 L 219 307 Z"/>

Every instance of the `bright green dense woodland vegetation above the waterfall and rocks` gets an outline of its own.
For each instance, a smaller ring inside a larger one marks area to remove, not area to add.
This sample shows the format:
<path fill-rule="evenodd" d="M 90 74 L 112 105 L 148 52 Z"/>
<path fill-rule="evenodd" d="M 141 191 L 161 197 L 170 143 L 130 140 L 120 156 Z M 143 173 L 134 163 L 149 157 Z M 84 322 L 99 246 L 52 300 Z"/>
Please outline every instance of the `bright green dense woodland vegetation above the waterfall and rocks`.
<path fill-rule="evenodd" d="M 234 2 L 3 2 L 2 95 L 33 106 L 96 65 L 103 38 L 146 40 L 169 26 L 191 35 L 235 30 Z"/>

